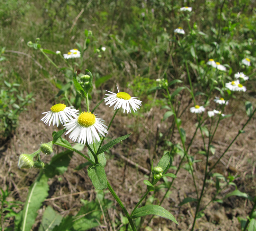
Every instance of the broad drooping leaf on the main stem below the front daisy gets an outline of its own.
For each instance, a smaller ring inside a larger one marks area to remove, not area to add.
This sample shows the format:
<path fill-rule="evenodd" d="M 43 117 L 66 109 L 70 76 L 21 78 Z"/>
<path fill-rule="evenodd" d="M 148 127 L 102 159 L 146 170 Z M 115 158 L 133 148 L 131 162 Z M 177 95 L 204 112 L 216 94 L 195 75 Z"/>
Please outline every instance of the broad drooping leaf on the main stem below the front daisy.
<path fill-rule="evenodd" d="M 102 190 L 107 188 L 107 177 L 102 164 L 89 166 L 87 172 L 96 189 Z"/>

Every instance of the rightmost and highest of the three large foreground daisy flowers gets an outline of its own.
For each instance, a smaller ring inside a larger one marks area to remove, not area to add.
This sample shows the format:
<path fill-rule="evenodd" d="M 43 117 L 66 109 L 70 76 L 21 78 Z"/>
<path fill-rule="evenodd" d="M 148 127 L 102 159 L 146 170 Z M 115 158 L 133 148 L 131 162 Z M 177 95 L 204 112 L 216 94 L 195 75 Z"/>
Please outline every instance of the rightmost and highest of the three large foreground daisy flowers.
<path fill-rule="evenodd" d="M 118 93 L 113 93 L 111 91 L 108 91 L 112 94 L 106 94 L 106 96 L 108 96 L 106 99 L 104 99 L 104 102 L 106 103 L 106 105 L 110 104 L 109 107 L 111 107 L 112 105 L 116 104 L 114 107 L 114 110 L 116 110 L 116 108 L 121 108 L 124 109 L 124 113 L 125 110 L 127 110 L 127 114 L 129 112 L 131 112 L 130 106 L 132 107 L 132 110 L 135 112 L 137 111 L 137 108 L 139 109 L 139 106 L 141 106 L 142 101 L 137 100 L 136 97 L 131 97 L 128 93 L 126 92 L 119 92 L 119 89 L 117 88 Z"/>

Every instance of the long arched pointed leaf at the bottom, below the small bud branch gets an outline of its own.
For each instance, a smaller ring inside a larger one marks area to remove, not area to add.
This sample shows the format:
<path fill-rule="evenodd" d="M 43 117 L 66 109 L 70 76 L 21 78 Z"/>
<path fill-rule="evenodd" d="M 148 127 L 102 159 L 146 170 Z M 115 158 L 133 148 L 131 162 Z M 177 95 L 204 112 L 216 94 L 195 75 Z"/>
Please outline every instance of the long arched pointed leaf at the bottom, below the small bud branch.
<path fill-rule="evenodd" d="M 144 207 L 137 208 L 135 210 L 134 214 L 132 214 L 131 218 L 135 219 L 137 217 L 143 217 L 146 215 L 157 215 L 160 217 L 167 218 L 167 219 L 175 222 L 176 224 L 178 224 L 178 222 L 176 221 L 176 219 L 173 217 L 173 215 L 170 212 L 165 210 L 163 207 L 161 207 L 159 205 L 154 205 L 154 204 L 149 204 Z"/>

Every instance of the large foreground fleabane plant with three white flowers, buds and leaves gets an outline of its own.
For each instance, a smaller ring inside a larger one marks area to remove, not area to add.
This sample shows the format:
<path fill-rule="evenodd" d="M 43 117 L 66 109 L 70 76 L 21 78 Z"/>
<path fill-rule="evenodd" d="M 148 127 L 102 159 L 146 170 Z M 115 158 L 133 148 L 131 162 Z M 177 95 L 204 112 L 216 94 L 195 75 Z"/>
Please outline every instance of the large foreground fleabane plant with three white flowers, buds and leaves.
<path fill-rule="evenodd" d="M 58 131 L 53 132 L 53 141 L 48 143 L 43 143 L 36 152 L 31 154 L 21 154 L 18 162 L 19 168 L 41 168 L 43 169 L 45 164 L 40 159 L 40 154 L 43 152 L 44 154 L 52 154 L 53 153 L 53 145 L 59 145 L 66 149 L 69 149 L 73 152 L 80 154 L 84 157 L 88 162 L 90 162 L 90 166 L 88 167 L 88 175 L 92 181 L 94 187 L 98 190 L 109 189 L 117 203 L 120 205 L 121 209 L 125 213 L 129 224 L 131 225 L 132 230 L 136 230 L 135 224 L 133 219 L 142 217 L 149 214 L 159 215 L 161 217 L 170 219 L 171 221 L 177 221 L 174 216 L 168 212 L 166 209 L 159 205 L 145 205 L 143 207 L 139 207 L 141 202 L 146 198 L 147 194 L 151 191 L 154 191 L 155 184 L 163 177 L 171 177 L 176 178 L 176 176 L 172 173 L 166 173 L 169 165 L 170 165 L 170 152 L 163 155 L 163 157 L 159 160 L 156 167 L 153 168 L 153 161 L 152 161 L 152 179 L 144 180 L 144 183 L 147 185 L 145 189 L 145 193 L 143 197 L 139 200 L 139 202 L 135 205 L 135 208 L 128 213 L 127 209 L 125 208 L 124 204 L 119 199 L 118 195 L 115 193 L 115 190 L 111 187 L 109 181 L 107 180 L 107 176 L 104 170 L 106 165 L 106 159 L 104 157 L 104 152 L 113 147 L 113 145 L 119 143 L 122 140 L 128 138 L 131 134 L 124 135 L 122 137 L 116 138 L 111 140 L 107 144 L 103 145 L 104 138 L 108 134 L 108 130 L 120 108 L 122 108 L 123 113 L 131 112 L 131 109 L 135 112 L 141 106 L 141 101 L 135 97 L 131 97 L 126 92 L 119 92 L 114 93 L 108 91 L 111 94 L 106 94 L 106 98 L 104 98 L 104 102 L 109 107 L 114 106 L 115 113 L 109 121 L 109 125 L 106 125 L 107 121 L 100 119 L 98 116 L 94 115 L 94 111 L 97 107 L 103 102 L 101 100 L 97 106 L 90 111 L 89 105 L 89 90 L 92 88 L 92 80 L 93 76 L 89 70 L 86 70 L 86 74 L 82 74 L 77 80 L 76 73 L 73 77 L 74 85 L 76 89 L 85 97 L 86 100 L 86 110 L 79 111 L 76 110 L 74 107 L 66 107 L 65 104 L 58 103 L 55 104 L 50 111 L 43 112 L 46 115 L 41 119 L 47 125 L 59 125 L 62 123 L 65 128 Z M 131 107 L 131 108 L 130 108 Z M 72 139 L 74 142 L 83 143 L 88 148 L 88 153 L 81 153 L 80 151 L 76 150 L 72 147 L 72 145 L 61 137 L 62 134 L 69 134 L 69 138 Z M 36 160 L 34 160 L 36 158 Z M 47 172 L 47 167 L 44 170 Z M 34 186 L 33 186 L 34 187 Z M 27 215 L 27 209 L 25 209 L 25 216 Z M 26 227 L 26 220 L 23 221 L 22 227 L 25 230 Z"/>

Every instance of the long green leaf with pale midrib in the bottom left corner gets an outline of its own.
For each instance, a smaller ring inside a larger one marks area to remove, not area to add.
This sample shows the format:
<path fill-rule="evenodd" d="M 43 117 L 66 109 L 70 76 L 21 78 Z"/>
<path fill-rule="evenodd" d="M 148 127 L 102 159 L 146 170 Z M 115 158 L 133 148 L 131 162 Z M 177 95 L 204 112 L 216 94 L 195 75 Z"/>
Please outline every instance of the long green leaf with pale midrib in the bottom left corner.
<path fill-rule="evenodd" d="M 22 231 L 30 231 L 32 225 L 35 223 L 37 210 L 42 206 L 42 203 L 48 196 L 49 186 L 47 181 L 48 177 L 41 172 L 36 181 L 30 186 L 22 212 Z"/>

